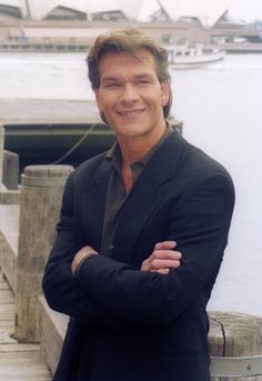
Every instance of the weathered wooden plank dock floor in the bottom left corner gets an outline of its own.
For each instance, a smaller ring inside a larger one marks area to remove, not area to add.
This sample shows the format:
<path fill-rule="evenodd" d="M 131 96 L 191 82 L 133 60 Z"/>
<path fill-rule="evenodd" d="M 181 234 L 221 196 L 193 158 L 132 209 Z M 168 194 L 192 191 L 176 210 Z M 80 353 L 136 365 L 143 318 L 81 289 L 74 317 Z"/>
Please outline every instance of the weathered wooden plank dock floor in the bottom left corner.
<path fill-rule="evenodd" d="M 51 381 L 39 344 L 18 343 L 14 332 L 14 297 L 0 271 L 0 381 Z"/>

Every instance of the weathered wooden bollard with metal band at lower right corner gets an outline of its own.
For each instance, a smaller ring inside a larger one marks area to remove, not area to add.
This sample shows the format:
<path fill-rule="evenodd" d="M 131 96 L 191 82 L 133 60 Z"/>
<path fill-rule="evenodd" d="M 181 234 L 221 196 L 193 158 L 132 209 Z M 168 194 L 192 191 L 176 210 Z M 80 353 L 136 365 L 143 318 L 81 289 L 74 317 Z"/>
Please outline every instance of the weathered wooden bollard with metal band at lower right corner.
<path fill-rule="evenodd" d="M 262 318 L 209 312 L 211 381 L 262 381 Z"/>

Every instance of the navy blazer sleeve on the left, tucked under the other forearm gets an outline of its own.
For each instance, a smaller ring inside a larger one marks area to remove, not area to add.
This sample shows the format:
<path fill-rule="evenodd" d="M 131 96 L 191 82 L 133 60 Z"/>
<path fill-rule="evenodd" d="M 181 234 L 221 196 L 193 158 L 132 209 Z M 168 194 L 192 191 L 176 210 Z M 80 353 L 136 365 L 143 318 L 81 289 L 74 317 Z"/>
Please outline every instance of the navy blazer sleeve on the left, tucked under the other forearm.
<path fill-rule="evenodd" d="M 110 324 L 113 314 L 87 293 L 71 272 L 73 257 L 87 244 L 75 228 L 73 199 L 73 176 L 70 176 L 64 187 L 57 238 L 44 270 L 43 293 L 56 311 L 83 321 Z"/>

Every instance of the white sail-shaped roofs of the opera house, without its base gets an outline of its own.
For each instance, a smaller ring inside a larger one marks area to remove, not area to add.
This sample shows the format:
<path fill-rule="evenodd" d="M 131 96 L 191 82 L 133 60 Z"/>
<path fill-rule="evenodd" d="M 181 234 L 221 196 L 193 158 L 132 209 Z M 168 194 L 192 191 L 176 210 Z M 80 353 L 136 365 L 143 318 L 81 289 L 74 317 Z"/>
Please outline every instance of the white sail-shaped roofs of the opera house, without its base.
<path fill-rule="evenodd" d="M 211 27 L 224 14 L 228 3 L 228 0 L 6 0 L 0 1 L 0 19 L 3 14 L 17 19 L 90 21 L 191 18 Z"/>

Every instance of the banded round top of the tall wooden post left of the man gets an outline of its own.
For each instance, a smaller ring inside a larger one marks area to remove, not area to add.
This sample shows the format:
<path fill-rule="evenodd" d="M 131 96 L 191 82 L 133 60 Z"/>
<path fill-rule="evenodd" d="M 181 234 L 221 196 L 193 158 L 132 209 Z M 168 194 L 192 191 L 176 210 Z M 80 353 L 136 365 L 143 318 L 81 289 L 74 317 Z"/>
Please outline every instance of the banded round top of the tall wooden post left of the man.
<path fill-rule="evenodd" d="M 73 167 L 66 164 L 28 166 L 23 170 L 21 183 L 24 187 L 62 187 L 72 171 Z"/>

